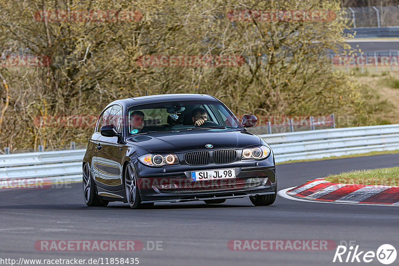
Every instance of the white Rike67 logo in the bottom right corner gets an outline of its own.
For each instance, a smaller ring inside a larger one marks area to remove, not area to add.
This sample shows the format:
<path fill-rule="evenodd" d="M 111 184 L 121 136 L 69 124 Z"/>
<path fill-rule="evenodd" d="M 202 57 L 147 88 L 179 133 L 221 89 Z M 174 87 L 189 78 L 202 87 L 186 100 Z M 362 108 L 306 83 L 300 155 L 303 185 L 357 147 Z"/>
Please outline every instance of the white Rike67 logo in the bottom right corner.
<path fill-rule="evenodd" d="M 397 257 L 397 252 L 394 246 L 390 244 L 381 245 L 377 252 L 374 251 L 360 251 L 359 245 L 350 246 L 347 248 L 346 246 L 338 246 L 334 255 L 333 263 L 371 263 L 377 260 L 385 265 L 392 264 L 395 262 Z"/>

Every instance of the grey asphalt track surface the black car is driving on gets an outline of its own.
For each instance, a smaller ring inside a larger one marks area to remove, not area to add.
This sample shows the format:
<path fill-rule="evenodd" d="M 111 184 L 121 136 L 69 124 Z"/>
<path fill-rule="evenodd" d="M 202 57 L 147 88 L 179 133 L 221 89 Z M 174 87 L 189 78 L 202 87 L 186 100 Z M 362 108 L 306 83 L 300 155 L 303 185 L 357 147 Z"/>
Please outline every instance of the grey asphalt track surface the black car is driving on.
<path fill-rule="evenodd" d="M 279 190 L 354 169 L 393 167 L 399 154 L 298 162 L 277 166 Z M 361 251 L 391 244 L 399 251 L 399 208 L 308 203 L 277 196 L 272 206 L 248 198 L 220 205 L 203 202 L 87 207 L 81 183 L 48 189 L 0 191 L 0 258 L 139 258 L 139 265 L 343 265 L 329 251 L 231 251 L 229 240 L 356 241 Z M 163 250 L 135 252 L 40 252 L 38 240 L 163 241 Z M 398 265 L 399 258 L 393 265 Z M 354 263 L 352 263 L 353 265 Z M 356 265 L 364 265 L 357 264 Z M 381 265 L 377 259 L 368 265 Z"/>

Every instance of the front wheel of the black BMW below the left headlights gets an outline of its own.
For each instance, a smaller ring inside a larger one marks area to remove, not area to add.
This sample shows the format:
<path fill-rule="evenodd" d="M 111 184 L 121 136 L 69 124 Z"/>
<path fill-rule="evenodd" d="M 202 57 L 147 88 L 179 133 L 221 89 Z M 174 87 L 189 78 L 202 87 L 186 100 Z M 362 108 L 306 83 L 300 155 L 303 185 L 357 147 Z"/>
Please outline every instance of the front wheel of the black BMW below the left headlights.
<path fill-rule="evenodd" d="M 125 168 L 125 193 L 131 209 L 148 209 L 154 206 L 154 203 L 141 203 L 136 174 L 130 163 Z"/>

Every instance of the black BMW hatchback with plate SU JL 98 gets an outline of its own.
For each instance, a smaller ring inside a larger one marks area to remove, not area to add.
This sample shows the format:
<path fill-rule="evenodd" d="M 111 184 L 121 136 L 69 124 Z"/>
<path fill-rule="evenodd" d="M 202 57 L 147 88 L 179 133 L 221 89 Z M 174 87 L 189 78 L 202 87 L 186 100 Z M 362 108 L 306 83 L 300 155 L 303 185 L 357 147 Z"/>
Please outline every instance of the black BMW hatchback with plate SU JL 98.
<path fill-rule="evenodd" d="M 83 158 L 88 206 L 110 201 L 131 208 L 156 202 L 204 201 L 249 196 L 255 206 L 276 199 L 270 146 L 245 128 L 210 95 L 169 94 L 110 103 L 99 116 Z"/>

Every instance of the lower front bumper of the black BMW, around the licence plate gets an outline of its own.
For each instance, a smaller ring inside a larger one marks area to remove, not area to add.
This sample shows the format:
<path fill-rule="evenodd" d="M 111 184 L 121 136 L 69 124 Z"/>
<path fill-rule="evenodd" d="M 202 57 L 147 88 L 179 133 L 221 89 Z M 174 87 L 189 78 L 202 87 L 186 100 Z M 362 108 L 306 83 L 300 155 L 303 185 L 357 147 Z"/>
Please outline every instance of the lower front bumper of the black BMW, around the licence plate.
<path fill-rule="evenodd" d="M 223 168 L 234 168 L 236 178 L 202 182 L 191 181 L 191 171 L 139 174 L 137 182 L 142 203 L 231 199 L 277 193 L 274 165 L 246 167 L 224 165 L 216 168 L 207 166 L 201 170 Z M 198 169 L 193 170 L 198 171 Z"/>

